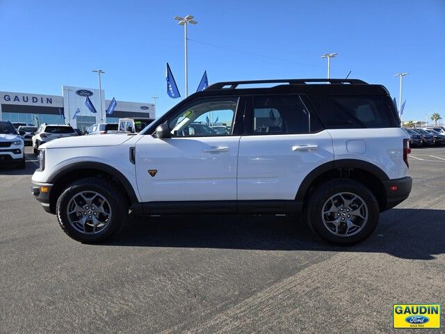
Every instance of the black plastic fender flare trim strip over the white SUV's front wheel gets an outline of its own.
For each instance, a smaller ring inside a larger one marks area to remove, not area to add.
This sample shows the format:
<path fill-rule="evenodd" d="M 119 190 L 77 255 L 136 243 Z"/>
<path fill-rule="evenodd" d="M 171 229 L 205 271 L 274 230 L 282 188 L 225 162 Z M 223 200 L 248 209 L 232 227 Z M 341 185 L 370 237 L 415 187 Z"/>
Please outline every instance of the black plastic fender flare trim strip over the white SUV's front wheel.
<path fill-rule="evenodd" d="M 79 161 L 79 162 L 74 162 L 72 164 L 67 164 L 59 168 L 58 170 L 55 170 L 53 173 L 51 173 L 51 175 L 49 175 L 48 183 L 56 184 L 58 180 L 63 178 L 65 175 L 73 172 L 74 170 L 79 170 L 79 169 L 101 170 L 105 173 L 112 175 L 116 180 L 118 180 L 118 182 L 120 182 L 120 184 L 122 184 L 131 202 L 132 203 L 139 202 L 138 197 L 136 196 L 136 192 L 134 191 L 133 186 L 131 186 L 131 183 L 129 182 L 127 177 L 125 177 L 116 168 L 97 161 Z"/>

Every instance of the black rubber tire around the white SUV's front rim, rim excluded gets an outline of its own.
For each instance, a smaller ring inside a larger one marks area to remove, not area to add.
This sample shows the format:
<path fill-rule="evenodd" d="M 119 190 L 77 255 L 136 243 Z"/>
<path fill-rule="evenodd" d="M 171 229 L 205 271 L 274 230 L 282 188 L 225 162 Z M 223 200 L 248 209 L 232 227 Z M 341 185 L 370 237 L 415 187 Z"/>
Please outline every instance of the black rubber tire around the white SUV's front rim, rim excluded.
<path fill-rule="evenodd" d="M 68 218 L 67 206 L 73 196 L 81 191 L 95 191 L 109 202 L 111 218 L 104 229 L 96 234 L 86 234 L 76 230 Z M 86 244 L 94 244 L 105 241 L 120 230 L 127 221 L 128 205 L 121 191 L 113 183 L 99 177 L 87 177 L 73 182 L 62 192 L 57 200 L 56 215 L 62 230 L 72 239 Z"/>

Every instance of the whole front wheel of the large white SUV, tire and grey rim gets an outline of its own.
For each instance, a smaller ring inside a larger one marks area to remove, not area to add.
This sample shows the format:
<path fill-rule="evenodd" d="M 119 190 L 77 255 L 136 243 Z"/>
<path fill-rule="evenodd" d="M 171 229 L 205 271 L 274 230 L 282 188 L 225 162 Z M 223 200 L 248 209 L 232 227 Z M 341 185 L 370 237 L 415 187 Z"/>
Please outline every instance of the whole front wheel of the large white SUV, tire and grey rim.
<path fill-rule="evenodd" d="M 99 177 L 78 180 L 57 200 L 58 222 L 72 239 L 95 243 L 108 239 L 127 220 L 128 206 L 114 184 Z"/>

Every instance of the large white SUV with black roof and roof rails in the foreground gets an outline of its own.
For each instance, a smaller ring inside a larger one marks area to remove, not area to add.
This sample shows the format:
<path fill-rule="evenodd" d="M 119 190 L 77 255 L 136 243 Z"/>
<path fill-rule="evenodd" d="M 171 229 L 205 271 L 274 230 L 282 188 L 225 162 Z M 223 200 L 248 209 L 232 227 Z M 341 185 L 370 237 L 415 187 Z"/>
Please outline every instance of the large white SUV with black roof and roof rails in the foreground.
<path fill-rule="evenodd" d="M 244 84 L 270 88 L 243 88 Z M 219 120 L 228 133 L 213 131 Z M 336 244 L 405 200 L 409 136 L 385 87 L 357 79 L 213 84 L 140 134 L 40 146 L 35 197 L 70 237 L 103 241 L 133 214 L 296 214 Z M 197 125 L 211 131 L 197 132 Z"/>

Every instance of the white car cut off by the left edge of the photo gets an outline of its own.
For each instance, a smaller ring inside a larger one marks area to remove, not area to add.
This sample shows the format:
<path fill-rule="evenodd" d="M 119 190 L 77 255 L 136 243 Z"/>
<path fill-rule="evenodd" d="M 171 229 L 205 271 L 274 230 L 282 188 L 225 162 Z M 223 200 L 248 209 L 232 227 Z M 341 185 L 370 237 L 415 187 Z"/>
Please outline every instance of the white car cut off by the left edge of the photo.
<path fill-rule="evenodd" d="M 25 168 L 25 148 L 20 134 L 13 123 L 0 120 L 0 164 L 15 164 L 17 168 Z"/>

